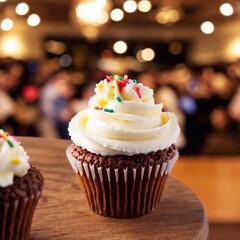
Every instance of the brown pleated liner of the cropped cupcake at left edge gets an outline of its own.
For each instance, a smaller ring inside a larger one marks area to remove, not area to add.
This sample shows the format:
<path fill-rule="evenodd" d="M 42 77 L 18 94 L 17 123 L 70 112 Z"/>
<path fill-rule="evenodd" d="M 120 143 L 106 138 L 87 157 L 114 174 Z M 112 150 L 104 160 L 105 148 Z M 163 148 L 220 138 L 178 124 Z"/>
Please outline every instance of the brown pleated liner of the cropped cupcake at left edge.
<path fill-rule="evenodd" d="M 0 239 L 29 239 L 33 213 L 41 191 L 29 198 L 20 198 L 10 202 L 0 201 Z"/>

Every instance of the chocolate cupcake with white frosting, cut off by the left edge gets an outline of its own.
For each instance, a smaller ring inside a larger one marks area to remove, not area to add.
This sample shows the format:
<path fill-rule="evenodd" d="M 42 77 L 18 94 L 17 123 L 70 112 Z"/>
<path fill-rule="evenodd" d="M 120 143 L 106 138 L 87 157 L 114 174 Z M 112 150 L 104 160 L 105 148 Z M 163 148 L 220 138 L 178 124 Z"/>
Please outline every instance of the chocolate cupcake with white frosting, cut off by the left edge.
<path fill-rule="evenodd" d="M 0 239 L 29 239 L 33 213 L 43 187 L 19 142 L 0 130 Z"/>

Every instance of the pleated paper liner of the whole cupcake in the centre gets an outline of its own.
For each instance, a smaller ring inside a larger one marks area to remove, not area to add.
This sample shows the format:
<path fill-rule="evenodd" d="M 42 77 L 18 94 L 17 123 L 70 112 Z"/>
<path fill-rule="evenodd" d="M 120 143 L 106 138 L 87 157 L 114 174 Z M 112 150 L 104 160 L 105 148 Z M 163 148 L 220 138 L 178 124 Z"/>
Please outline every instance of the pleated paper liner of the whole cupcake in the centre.
<path fill-rule="evenodd" d="M 167 176 L 178 154 L 160 165 L 136 168 L 96 167 L 75 159 L 66 151 L 89 207 L 95 213 L 114 217 L 138 217 L 159 203 Z"/>

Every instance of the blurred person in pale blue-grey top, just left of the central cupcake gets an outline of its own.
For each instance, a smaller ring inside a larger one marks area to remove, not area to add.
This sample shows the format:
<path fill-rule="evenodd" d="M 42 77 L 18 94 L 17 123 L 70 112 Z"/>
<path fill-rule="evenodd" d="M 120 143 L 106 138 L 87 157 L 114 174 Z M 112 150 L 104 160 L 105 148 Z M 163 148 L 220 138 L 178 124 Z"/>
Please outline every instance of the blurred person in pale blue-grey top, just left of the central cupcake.
<path fill-rule="evenodd" d="M 59 71 L 53 75 L 41 90 L 40 134 L 45 137 L 68 139 L 68 123 L 73 116 L 70 100 L 75 92 L 70 73 Z"/>

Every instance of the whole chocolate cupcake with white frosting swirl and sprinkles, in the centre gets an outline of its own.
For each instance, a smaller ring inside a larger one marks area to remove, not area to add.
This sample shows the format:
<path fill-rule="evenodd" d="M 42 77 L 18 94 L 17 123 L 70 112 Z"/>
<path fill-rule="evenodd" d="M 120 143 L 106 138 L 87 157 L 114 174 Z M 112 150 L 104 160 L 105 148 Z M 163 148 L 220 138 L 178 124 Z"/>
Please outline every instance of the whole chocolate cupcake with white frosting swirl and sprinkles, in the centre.
<path fill-rule="evenodd" d="M 138 217 L 159 203 L 179 156 L 174 143 L 180 132 L 175 115 L 162 108 L 152 89 L 112 75 L 71 119 L 66 154 L 93 212 Z"/>

